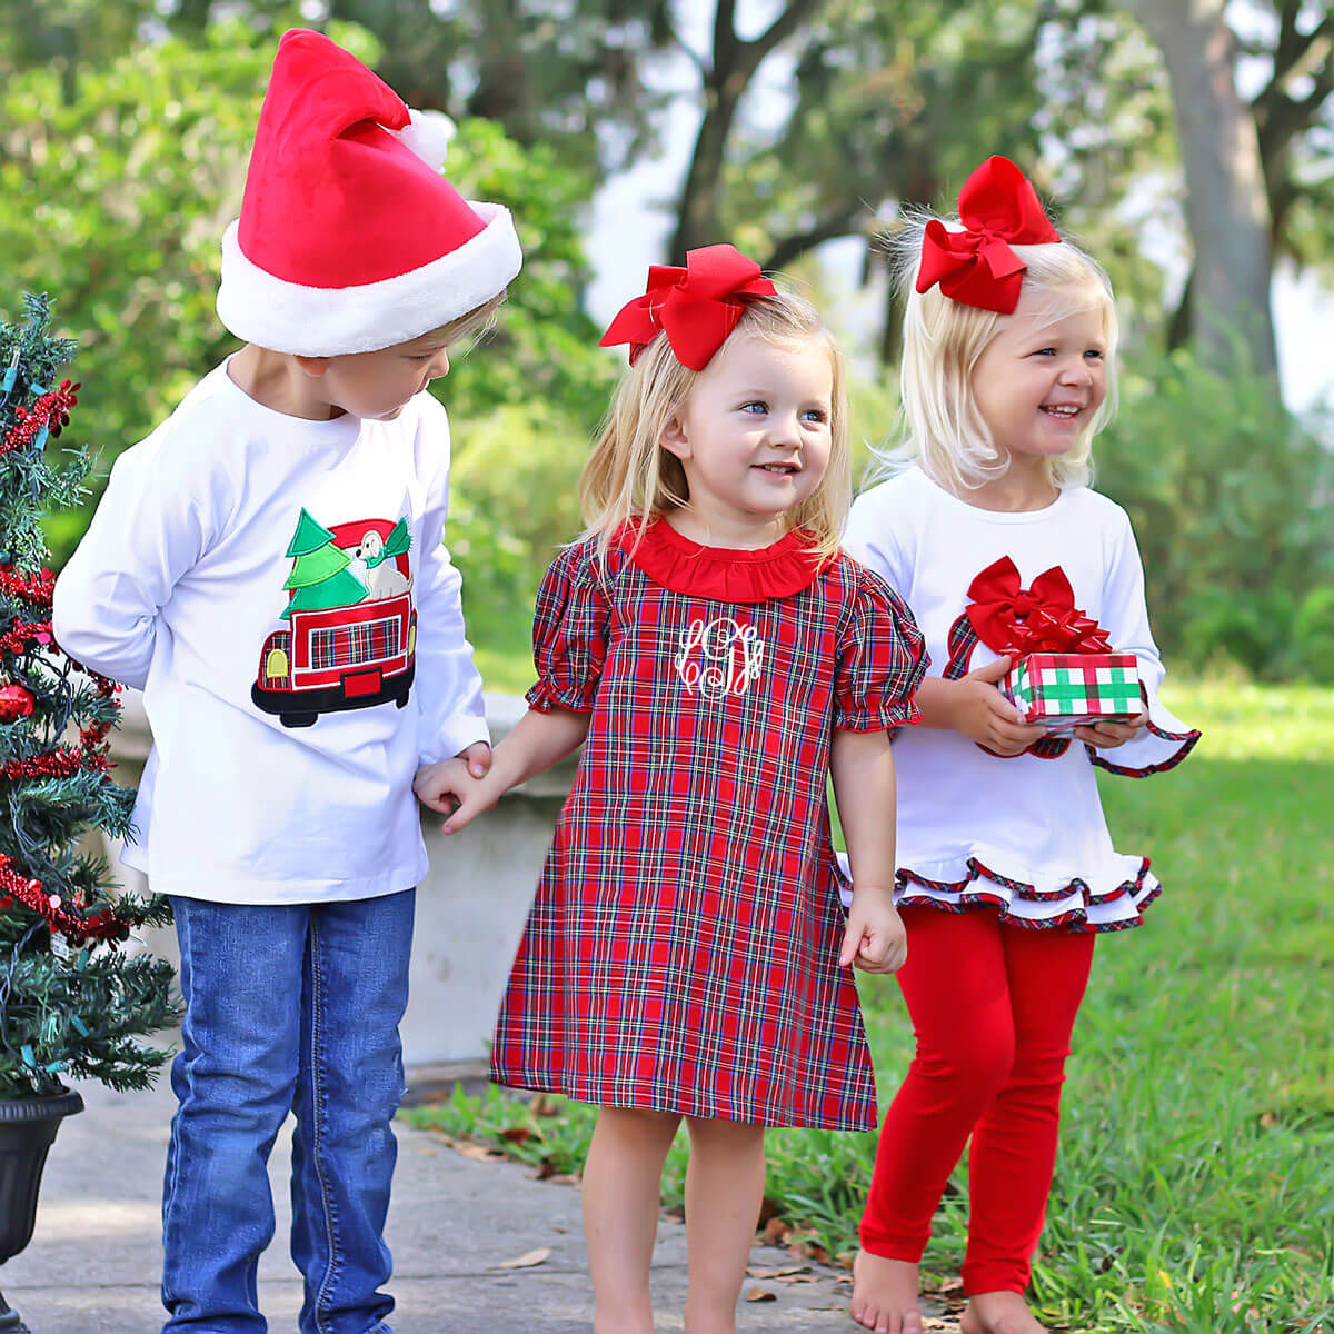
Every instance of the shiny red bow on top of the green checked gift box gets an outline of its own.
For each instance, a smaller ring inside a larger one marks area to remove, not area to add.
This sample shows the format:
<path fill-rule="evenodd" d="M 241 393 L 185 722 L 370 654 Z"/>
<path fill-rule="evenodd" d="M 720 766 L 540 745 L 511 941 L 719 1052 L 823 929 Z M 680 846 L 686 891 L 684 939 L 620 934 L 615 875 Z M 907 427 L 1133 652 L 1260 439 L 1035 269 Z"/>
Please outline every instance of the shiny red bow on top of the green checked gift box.
<path fill-rule="evenodd" d="M 978 638 L 998 654 L 1107 654 L 1107 632 L 1075 607 L 1075 591 L 1061 566 L 1045 570 L 1031 588 L 1019 583 L 1009 556 L 968 584 L 966 608 Z"/>

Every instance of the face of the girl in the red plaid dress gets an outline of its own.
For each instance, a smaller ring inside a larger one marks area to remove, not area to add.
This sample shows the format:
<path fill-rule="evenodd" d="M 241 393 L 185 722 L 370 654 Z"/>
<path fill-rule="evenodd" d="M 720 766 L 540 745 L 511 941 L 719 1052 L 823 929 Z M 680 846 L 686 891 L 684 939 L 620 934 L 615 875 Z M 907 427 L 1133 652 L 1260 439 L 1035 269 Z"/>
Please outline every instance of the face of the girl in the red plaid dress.
<path fill-rule="evenodd" d="M 830 462 L 834 363 L 819 339 L 739 329 L 696 378 L 662 435 L 690 503 L 679 518 L 722 546 L 760 546 L 815 492 Z M 704 539 L 700 539 L 704 540 Z"/>

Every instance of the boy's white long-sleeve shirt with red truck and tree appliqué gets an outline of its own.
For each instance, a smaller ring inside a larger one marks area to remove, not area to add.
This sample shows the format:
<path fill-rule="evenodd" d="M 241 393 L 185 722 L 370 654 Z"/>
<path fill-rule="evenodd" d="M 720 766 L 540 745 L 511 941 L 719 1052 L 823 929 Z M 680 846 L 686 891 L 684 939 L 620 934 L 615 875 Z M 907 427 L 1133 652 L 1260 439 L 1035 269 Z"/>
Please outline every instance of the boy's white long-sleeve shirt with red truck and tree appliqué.
<path fill-rule="evenodd" d="M 448 475 L 430 395 L 392 422 L 309 422 L 225 363 L 116 460 L 53 619 L 68 654 L 144 691 L 124 860 L 155 890 L 305 903 L 422 879 L 412 775 L 487 739 Z"/>

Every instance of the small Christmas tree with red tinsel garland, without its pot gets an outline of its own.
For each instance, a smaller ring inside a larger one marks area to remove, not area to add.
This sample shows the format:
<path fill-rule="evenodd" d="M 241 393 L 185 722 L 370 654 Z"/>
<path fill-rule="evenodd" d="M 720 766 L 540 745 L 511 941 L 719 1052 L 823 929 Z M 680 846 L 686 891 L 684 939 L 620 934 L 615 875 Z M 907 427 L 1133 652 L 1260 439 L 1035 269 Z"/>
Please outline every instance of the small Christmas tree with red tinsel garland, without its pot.
<path fill-rule="evenodd" d="M 141 1089 L 165 1053 L 141 1041 L 177 1018 L 171 964 L 120 948 L 171 920 L 160 896 L 113 896 L 89 826 L 131 832 L 133 791 L 108 774 L 119 687 L 72 662 L 51 632 L 43 510 L 85 494 L 87 452 L 53 438 L 77 384 L 55 383 L 75 344 L 47 336 L 45 297 L 0 321 L 0 1099 L 61 1078 Z"/>

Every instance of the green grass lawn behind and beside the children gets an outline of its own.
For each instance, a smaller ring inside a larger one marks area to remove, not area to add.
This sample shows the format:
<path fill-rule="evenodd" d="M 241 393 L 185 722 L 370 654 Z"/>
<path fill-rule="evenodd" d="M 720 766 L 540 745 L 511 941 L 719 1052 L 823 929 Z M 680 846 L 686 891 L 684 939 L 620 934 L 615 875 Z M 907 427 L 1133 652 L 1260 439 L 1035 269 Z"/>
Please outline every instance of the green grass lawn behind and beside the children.
<path fill-rule="evenodd" d="M 1037 1307 L 1099 1334 L 1334 1330 L 1334 692 L 1210 683 L 1167 699 L 1205 730 L 1194 755 L 1145 780 L 1101 775 L 1118 846 L 1150 852 L 1165 892 L 1143 928 L 1098 942 Z M 892 982 L 867 979 L 863 1000 L 887 1101 L 911 1033 Z M 578 1171 L 592 1113 L 550 1103 L 534 1115 L 494 1091 L 410 1115 Z M 770 1199 L 847 1251 L 874 1145 L 772 1133 Z M 679 1143 L 668 1205 L 683 1171 Z M 962 1258 L 962 1167 L 955 1186 L 928 1275 Z"/>

